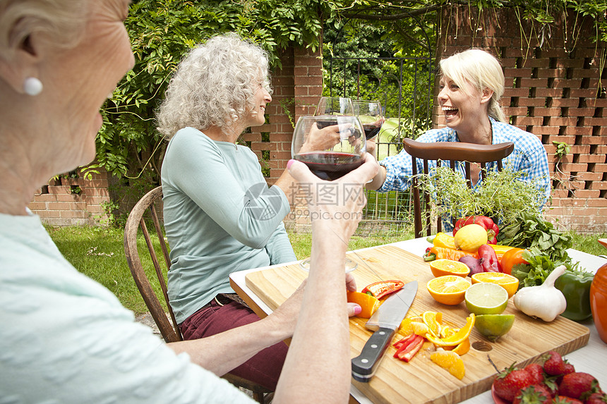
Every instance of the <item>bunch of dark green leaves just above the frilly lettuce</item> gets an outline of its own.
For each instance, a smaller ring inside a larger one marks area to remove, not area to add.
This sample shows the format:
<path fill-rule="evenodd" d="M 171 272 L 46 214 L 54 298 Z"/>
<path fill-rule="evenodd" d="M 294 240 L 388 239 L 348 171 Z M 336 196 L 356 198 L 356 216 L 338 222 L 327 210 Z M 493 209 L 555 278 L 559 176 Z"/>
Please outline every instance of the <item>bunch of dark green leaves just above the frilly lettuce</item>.
<path fill-rule="evenodd" d="M 567 248 L 573 245 L 571 235 L 554 228 L 539 215 L 522 212 L 519 221 L 500 228 L 498 244 L 530 250 L 538 249 L 554 262 L 567 262 Z"/>

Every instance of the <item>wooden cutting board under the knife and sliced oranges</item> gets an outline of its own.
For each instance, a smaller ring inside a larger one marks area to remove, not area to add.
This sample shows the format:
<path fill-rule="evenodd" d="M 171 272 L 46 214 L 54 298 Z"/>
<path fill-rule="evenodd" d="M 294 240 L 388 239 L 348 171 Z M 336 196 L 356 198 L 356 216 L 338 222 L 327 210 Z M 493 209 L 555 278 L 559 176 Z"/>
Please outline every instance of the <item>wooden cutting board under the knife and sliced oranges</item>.
<path fill-rule="evenodd" d="M 348 257 L 359 264 L 352 273 L 359 290 L 380 280 L 416 280 L 419 289 L 407 317 L 433 310 L 443 313 L 443 324 L 458 328 L 465 324 L 469 312 L 464 302 L 457 306 L 442 305 L 428 293 L 426 283 L 433 275 L 430 265 L 421 257 L 390 245 L 357 251 Z M 306 276 L 307 273 L 299 269 L 299 264 L 294 264 L 251 272 L 246 275 L 246 286 L 274 310 Z M 491 388 L 496 372 L 489 359 L 501 370 L 512 363 L 527 365 L 540 362 L 539 357 L 548 350 L 565 355 L 588 343 L 589 329 L 564 317 L 559 316 L 550 323 L 532 319 L 516 310 L 512 299 L 505 311 L 505 314 L 510 313 L 516 315 L 515 324 L 495 343 L 481 336 L 476 329 L 472 331 L 472 348 L 462 355 L 466 368 L 462 380 L 431 362 L 433 345 L 426 343 L 408 363 L 392 357 L 396 350 L 390 346 L 369 383 L 354 379 L 352 383 L 373 403 L 459 403 Z M 371 331 L 365 329 L 365 322 L 366 319 L 358 317 L 350 319 L 351 357 L 359 355 L 371 336 Z M 392 342 L 398 341 L 397 338 L 400 338 L 398 334 Z"/>

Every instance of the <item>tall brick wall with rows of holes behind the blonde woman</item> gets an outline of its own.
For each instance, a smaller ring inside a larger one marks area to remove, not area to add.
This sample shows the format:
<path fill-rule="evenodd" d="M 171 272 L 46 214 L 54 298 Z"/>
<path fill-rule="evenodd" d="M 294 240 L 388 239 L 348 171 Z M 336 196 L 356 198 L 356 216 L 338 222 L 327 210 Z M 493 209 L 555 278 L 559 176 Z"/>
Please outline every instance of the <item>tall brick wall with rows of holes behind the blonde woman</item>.
<path fill-rule="evenodd" d="M 554 190 L 546 217 L 570 230 L 607 232 L 607 99 L 600 87 L 601 74 L 604 80 L 607 72 L 599 68 L 604 44 L 592 42 L 594 22 L 577 16 L 576 25 L 576 16 L 570 16 L 542 38 L 537 30 L 538 35 L 530 34 L 529 21 L 523 21 L 522 35 L 512 11 L 477 16 L 466 6 L 443 13 L 437 60 L 470 47 L 498 56 L 505 74 L 506 116 L 512 125 L 537 135 L 548 153 Z M 577 41 L 572 27 L 579 28 Z M 437 106 L 435 100 L 433 122 L 444 126 Z M 553 142 L 570 145 L 560 161 Z"/>

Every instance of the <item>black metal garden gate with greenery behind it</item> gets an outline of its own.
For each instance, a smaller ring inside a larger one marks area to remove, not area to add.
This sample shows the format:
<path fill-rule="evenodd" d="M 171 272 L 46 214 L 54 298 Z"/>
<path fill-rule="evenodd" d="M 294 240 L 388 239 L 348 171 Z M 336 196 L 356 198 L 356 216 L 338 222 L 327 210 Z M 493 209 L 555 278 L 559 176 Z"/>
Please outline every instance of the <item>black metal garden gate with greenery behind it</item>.
<path fill-rule="evenodd" d="M 402 149 L 404 137 L 416 138 L 431 128 L 433 69 L 432 58 L 356 58 L 333 56 L 328 61 L 325 95 L 351 99 L 378 99 L 386 122 L 376 137 L 378 160 Z M 361 66 L 376 66 L 375 77 L 364 75 Z M 326 66 L 326 65 L 325 65 Z M 325 67 L 326 68 L 326 67 Z M 370 87 L 373 87 L 370 90 Z M 409 192 L 367 191 L 367 206 L 357 234 L 385 234 L 408 228 L 413 208 Z"/>

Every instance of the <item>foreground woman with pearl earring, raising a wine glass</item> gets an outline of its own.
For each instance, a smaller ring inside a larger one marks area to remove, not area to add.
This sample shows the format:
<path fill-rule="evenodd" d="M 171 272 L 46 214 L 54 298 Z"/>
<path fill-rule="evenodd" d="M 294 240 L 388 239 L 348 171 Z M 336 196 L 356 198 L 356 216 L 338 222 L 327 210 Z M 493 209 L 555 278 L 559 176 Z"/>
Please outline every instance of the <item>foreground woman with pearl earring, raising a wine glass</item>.
<path fill-rule="evenodd" d="M 67 262 L 28 209 L 49 178 L 95 158 L 100 107 L 133 67 L 123 24 L 128 6 L 128 0 L 0 0 L 0 401 L 253 403 L 217 376 L 293 336 L 274 402 L 347 403 L 342 240 L 356 229 L 359 200 L 327 205 L 308 195 L 316 217 L 313 265 L 306 287 L 274 313 L 212 338 L 170 344 Z M 339 197 L 377 171 L 371 158 L 329 183 L 299 161 L 288 167 Z"/>

